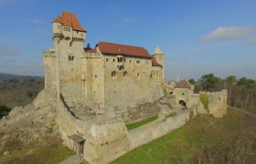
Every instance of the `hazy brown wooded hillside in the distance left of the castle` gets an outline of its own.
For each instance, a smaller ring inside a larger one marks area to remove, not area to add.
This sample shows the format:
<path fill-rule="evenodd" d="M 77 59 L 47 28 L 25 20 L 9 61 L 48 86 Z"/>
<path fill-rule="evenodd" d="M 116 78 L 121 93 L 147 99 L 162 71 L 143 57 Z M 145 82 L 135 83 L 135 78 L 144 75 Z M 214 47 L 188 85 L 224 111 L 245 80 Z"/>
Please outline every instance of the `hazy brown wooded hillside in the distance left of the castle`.
<path fill-rule="evenodd" d="M 43 88 L 44 77 L 25 77 L 0 73 L 0 118 L 10 108 L 25 106 L 30 103 Z"/>

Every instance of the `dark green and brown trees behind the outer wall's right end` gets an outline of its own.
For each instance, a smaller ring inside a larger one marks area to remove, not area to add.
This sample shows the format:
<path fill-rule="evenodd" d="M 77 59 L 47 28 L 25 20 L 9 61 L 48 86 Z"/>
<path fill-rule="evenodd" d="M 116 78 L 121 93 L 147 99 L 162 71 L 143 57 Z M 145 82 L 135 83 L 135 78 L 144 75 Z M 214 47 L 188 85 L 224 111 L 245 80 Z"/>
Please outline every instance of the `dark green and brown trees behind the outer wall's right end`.
<path fill-rule="evenodd" d="M 228 90 L 228 105 L 240 108 L 256 114 L 256 81 L 251 78 L 229 76 L 224 79 L 215 77 L 214 74 L 202 76 L 197 81 L 188 79 L 189 83 L 195 85 L 194 92 Z"/>

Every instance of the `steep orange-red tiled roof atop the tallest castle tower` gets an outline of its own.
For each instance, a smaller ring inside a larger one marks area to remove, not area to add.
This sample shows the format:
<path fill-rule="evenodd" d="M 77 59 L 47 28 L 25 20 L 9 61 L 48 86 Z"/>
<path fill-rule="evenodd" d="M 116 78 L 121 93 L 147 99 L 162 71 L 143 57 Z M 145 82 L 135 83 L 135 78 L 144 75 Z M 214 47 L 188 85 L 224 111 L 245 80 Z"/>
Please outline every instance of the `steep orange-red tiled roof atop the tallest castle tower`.
<path fill-rule="evenodd" d="M 62 24 L 63 26 L 72 27 L 74 30 L 86 32 L 86 30 L 80 26 L 80 22 L 78 21 L 76 15 L 63 12 L 61 16 L 57 16 L 53 22 L 57 22 Z"/>

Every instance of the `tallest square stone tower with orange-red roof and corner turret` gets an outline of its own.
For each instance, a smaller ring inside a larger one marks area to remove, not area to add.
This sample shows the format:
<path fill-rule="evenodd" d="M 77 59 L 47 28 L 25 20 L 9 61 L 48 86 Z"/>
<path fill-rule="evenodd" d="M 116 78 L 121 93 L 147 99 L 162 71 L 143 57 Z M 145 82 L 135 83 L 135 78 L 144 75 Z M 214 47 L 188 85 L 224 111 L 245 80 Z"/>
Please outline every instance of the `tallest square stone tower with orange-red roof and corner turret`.
<path fill-rule="evenodd" d="M 52 22 L 53 49 L 57 56 L 57 91 L 68 101 L 79 99 L 81 93 L 81 56 L 84 52 L 86 30 L 76 15 L 63 12 Z"/>

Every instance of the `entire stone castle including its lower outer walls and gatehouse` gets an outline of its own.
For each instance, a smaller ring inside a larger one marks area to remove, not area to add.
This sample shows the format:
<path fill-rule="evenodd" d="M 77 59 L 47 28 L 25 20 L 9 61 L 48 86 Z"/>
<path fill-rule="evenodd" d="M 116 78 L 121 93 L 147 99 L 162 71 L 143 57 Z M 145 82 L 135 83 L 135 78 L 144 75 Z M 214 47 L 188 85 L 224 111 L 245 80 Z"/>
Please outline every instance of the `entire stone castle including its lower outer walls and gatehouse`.
<path fill-rule="evenodd" d="M 110 162 L 198 113 L 221 118 L 227 112 L 227 90 L 194 94 L 187 80 L 165 84 L 165 56 L 158 46 L 152 56 L 143 47 L 107 42 L 84 48 L 87 31 L 68 12 L 52 27 L 53 47 L 43 52 L 45 89 L 37 100 L 44 96 L 56 102 L 64 144 L 90 163 Z M 152 116 L 158 118 L 126 128 Z"/>

